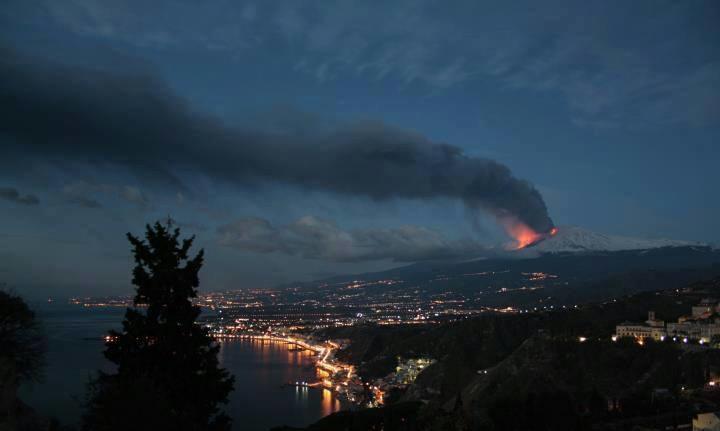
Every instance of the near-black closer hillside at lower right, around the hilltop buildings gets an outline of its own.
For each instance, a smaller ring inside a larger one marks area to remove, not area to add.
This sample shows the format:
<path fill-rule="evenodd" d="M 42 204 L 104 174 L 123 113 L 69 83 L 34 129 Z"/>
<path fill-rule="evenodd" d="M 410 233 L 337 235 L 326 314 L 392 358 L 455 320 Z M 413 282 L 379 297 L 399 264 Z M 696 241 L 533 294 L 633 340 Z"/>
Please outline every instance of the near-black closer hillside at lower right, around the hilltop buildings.
<path fill-rule="evenodd" d="M 358 364 L 366 381 L 391 372 L 397 356 L 437 360 L 390 399 L 390 409 L 361 413 L 378 429 L 590 429 L 598 423 L 624 429 L 646 424 L 648 416 L 687 423 L 692 405 L 720 407 L 713 394 L 692 398 L 680 389 L 702 391 L 707 376 L 720 375 L 720 351 L 686 350 L 670 341 L 639 346 L 612 342 L 610 335 L 618 322 L 642 321 L 648 310 L 673 321 L 705 297 L 720 297 L 720 278 L 577 309 L 488 314 L 429 327 L 334 328 L 322 335 L 351 340 L 339 356 Z M 655 389 L 664 395 L 654 397 Z M 415 416 L 409 411 L 417 401 L 423 406 Z M 346 412 L 309 429 L 360 429 L 353 423 Z"/>

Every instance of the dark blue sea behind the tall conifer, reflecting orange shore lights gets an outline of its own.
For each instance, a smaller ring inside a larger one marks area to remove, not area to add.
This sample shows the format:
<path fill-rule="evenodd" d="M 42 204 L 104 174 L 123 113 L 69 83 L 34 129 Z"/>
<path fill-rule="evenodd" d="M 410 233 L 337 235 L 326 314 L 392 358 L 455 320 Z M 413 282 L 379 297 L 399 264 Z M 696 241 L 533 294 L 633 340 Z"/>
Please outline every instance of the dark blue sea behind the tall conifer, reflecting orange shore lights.
<path fill-rule="evenodd" d="M 32 305 L 47 338 L 46 366 L 41 381 L 20 388 L 20 398 L 43 416 L 76 425 L 89 380 L 98 370 L 113 369 L 102 355 L 102 336 L 122 327 L 125 309 Z M 313 352 L 290 350 L 275 341 L 227 340 L 220 345 L 220 362 L 235 376 L 235 390 L 225 406 L 236 418 L 234 430 L 306 426 L 342 408 L 326 389 L 288 385 L 317 380 Z"/>

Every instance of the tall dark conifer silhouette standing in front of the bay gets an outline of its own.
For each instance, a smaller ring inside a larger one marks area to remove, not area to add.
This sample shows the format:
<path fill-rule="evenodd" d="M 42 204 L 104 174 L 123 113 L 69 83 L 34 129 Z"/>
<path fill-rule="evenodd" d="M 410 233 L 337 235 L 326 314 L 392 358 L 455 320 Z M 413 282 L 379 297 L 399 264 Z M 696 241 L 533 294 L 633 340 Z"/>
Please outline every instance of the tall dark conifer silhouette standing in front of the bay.
<path fill-rule="evenodd" d="M 219 367 L 219 346 L 196 323 L 203 251 L 188 252 L 172 221 L 148 225 L 145 240 L 128 234 L 135 257 L 134 307 L 121 332 L 110 331 L 105 357 L 117 365 L 90 384 L 83 428 L 103 430 L 228 430 L 220 410 L 234 378 Z M 146 307 L 144 311 L 140 307 Z"/>

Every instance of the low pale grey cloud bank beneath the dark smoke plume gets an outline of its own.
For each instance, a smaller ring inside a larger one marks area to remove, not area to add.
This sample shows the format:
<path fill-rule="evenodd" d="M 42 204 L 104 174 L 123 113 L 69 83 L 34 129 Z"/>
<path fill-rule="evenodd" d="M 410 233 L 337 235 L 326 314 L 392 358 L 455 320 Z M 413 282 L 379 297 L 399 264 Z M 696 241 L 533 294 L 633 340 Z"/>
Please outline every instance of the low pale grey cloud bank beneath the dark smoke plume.
<path fill-rule="evenodd" d="M 255 253 L 283 253 L 305 259 L 395 262 L 467 259 L 487 255 L 472 240 L 451 240 L 418 226 L 346 231 L 334 222 L 313 216 L 285 226 L 262 218 L 244 218 L 217 230 L 220 244 Z"/>

